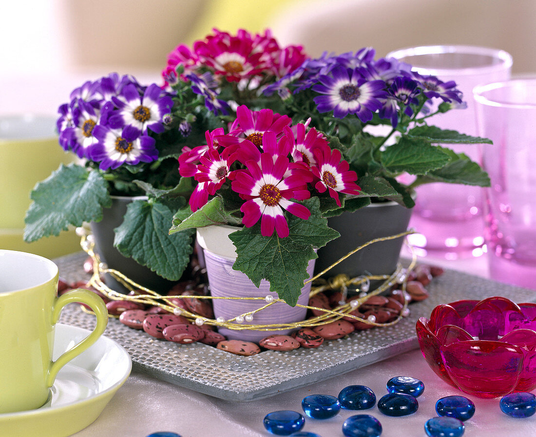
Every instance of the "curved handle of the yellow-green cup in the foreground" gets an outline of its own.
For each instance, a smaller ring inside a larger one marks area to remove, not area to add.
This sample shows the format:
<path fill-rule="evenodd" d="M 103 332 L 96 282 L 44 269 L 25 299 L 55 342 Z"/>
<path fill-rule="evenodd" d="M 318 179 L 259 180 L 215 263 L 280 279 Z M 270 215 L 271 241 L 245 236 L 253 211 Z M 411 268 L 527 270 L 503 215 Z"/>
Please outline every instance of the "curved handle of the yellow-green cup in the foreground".
<path fill-rule="evenodd" d="M 90 335 L 60 355 L 56 361 L 52 361 L 50 363 L 47 375 L 48 387 L 53 386 L 59 369 L 95 343 L 96 340 L 98 340 L 103 334 L 104 330 L 106 329 L 106 325 L 108 324 L 108 310 L 106 309 L 104 301 L 98 295 L 89 290 L 77 288 L 76 290 L 66 292 L 65 294 L 61 295 L 61 297 L 56 299 L 52 312 L 53 325 L 56 324 L 59 319 L 59 314 L 62 312 L 63 307 L 68 303 L 85 303 L 88 305 L 95 313 L 97 323 L 95 329 Z"/>

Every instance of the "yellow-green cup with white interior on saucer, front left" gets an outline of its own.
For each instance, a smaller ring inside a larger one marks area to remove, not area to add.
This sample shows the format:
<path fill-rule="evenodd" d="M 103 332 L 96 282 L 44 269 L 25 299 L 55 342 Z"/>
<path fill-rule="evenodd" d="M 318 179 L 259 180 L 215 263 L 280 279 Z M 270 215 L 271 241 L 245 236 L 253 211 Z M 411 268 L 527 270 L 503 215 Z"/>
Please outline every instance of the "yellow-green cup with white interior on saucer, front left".
<path fill-rule="evenodd" d="M 102 335 L 105 303 L 95 293 L 57 296 L 58 268 L 47 258 L 0 249 L 0 413 L 33 410 L 47 402 L 56 375 Z M 96 315 L 91 334 L 52 361 L 54 328 L 62 308 L 81 302 Z"/>

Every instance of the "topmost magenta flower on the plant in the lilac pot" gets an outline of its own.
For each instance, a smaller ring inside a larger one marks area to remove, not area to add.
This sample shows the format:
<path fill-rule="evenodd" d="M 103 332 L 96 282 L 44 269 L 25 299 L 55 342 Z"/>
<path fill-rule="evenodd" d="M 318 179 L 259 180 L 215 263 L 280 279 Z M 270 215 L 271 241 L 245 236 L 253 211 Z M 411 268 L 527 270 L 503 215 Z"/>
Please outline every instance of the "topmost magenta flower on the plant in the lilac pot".
<path fill-rule="evenodd" d="M 292 119 L 287 115 L 274 113 L 271 109 L 252 111 L 247 106 L 241 105 L 236 109 L 236 120 L 229 128 L 230 136 L 227 135 L 222 144 L 236 144 L 247 139 L 257 147 L 262 147 L 265 132 L 280 135 L 291 122 Z"/>

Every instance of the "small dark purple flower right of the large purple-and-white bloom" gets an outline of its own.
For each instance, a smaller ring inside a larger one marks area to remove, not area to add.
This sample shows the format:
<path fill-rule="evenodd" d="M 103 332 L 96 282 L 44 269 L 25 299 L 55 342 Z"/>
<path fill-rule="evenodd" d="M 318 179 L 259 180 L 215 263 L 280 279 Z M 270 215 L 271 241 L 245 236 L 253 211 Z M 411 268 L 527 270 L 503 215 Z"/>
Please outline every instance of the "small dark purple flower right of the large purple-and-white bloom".
<path fill-rule="evenodd" d="M 398 111 L 404 108 L 404 114 L 412 116 L 414 109 L 411 105 L 418 105 L 419 100 L 415 97 L 420 93 L 417 83 L 407 77 L 397 77 L 387 88 L 388 98 L 383 102 L 379 110 L 380 118 L 390 118 L 393 128 L 398 125 Z"/>

